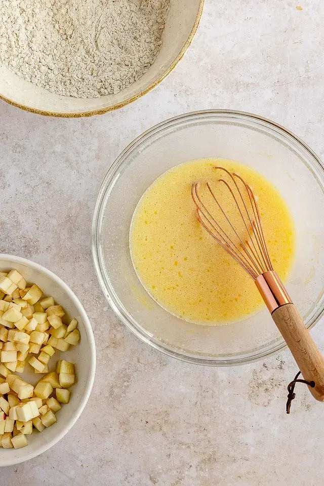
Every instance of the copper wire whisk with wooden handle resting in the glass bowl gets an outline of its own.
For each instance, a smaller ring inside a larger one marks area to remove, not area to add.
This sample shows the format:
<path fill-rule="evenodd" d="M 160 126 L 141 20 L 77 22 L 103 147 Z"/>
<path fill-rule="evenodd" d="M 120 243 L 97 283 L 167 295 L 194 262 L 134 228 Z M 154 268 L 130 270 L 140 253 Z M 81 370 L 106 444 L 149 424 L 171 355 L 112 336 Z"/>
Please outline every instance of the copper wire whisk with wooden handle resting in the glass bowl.
<path fill-rule="evenodd" d="M 256 196 L 238 174 L 215 170 L 216 182 L 191 188 L 199 223 L 253 278 L 312 395 L 324 401 L 324 358 L 272 266 Z"/>

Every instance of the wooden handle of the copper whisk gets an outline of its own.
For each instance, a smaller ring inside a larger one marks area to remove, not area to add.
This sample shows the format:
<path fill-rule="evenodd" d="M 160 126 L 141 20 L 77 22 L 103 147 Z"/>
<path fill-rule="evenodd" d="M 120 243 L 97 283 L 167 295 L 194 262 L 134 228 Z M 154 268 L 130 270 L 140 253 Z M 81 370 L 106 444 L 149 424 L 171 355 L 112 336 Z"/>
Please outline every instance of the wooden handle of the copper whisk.
<path fill-rule="evenodd" d="M 307 381 L 315 386 L 309 391 L 316 400 L 324 401 L 324 357 L 318 350 L 294 304 L 286 304 L 272 312 L 272 318 L 285 339 L 295 361 Z"/>

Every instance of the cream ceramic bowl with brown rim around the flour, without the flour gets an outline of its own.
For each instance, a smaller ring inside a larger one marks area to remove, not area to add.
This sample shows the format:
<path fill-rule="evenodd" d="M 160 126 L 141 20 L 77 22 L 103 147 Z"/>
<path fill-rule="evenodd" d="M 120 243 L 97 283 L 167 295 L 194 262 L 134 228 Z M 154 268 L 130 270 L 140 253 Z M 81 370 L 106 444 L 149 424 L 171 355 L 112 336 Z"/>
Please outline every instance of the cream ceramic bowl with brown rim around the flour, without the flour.
<path fill-rule="evenodd" d="M 171 0 L 161 50 L 148 71 L 116 95 L 78 99 L 58 96 L 0 69 L 0 98 L 19 108 L 50 116 L 90 116 L 121 108 L 145 95 L 178 64 L 188 49 L 203 13 L 204 0 Z"/>

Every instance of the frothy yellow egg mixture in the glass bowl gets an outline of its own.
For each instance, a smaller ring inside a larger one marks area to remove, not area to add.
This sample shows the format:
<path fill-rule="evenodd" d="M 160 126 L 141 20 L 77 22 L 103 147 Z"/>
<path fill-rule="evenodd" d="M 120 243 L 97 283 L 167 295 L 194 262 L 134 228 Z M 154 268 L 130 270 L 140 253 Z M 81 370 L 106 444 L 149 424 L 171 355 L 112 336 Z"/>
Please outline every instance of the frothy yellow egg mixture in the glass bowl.
<path fill-rule="evenodd" d="M 252 186 L 269 254 L 282 280 L 289 274 L 295 250 L 294 223 L 284 199 L 254 170 L 230 160 L 203 159 L 181 164 L 156 179 L 133 216 L 133 265 L 159 305 L 203 325 L 240 320 L 262 305 L 253 279 L 197 220 L 191 186 L 215 180 L 215 166 L 238 173 Z"/>

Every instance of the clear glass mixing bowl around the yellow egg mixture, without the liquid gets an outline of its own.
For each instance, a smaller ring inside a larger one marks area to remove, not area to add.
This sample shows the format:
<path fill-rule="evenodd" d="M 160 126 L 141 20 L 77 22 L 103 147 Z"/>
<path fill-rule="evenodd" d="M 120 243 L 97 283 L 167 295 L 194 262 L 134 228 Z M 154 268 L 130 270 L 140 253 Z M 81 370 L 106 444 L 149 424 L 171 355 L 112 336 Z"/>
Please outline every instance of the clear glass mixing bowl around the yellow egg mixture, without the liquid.
<path fill-rule="evenodd" d="M 130 257 L 130 223 L 147 187 L 177 164 L 205 157 L 246 164 L 285 197 L 297 237 L 296 259 L 286 283 L 311 328 L 324 305 L 324 168 L 301 140 L 259 116 L 227 110 L 188 113 L 164 121 L 134 140 L 102 183 L 93 220 L 93 256 L 109 304 L 136 336 L 185 361 L 238 365 L 285 346 L 268 311 L 228 326 L 185 322 L 146 293 Z"/>

